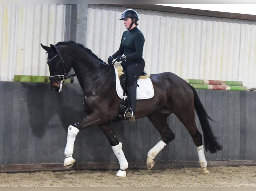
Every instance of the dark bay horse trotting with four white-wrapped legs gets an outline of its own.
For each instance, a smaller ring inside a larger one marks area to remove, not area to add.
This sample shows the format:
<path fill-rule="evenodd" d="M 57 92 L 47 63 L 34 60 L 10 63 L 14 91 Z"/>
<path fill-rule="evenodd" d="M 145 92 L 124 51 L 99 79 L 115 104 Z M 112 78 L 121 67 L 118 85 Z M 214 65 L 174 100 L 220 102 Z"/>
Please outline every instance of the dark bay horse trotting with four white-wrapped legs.
<path fill-rule="evenodd" d="M 118 159 L 120 169 L 116 176 L 126 177 L 128 162 L 122 151 L 122 143 L 118 141 L 111 126 L 111 123 L 117 120 L 118 108 L 122 101 L 116 93 L 116 83 L 119 82 L 115 79 L 114 66 L 106 64 L 90 49 L 74 41 L 58 42 L 55 45 L 50 44 L 50 47 L 41 44 L 41 47 L 47 53 L 51 89 L 60 92 L 66 79 L 77 76 L 83 90 L 83 106 L 87 117 L 68 127 L 63 165 L 70 167 L 75 163 L 72 155 L 77 133 L 96 125 L 106 135 Z M 72 68 L 75 74 L 68 76 Z M 147 153 L 147 169 L 152 169 L 156 155 L 175 138 L 167 124 L 167 117 L 173 113 L 185 126 L 197 147 L 200 173 L 208 174 L 205 150 L 216 153 L 222 149 L 222 145 L 212 132 L 209 123 L 212 119 L 202 105 L 196 90 L 171 72 L 151 74 L 149 78 L 153 85 L 154 96 L 137 100 L 135 119 L 147 116 L 160 133 L 161 140 Z M 203 136 L 196 126 L 195 111 L 203 130 L 204 145 Z"/>

